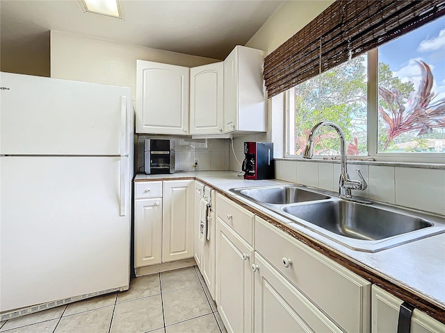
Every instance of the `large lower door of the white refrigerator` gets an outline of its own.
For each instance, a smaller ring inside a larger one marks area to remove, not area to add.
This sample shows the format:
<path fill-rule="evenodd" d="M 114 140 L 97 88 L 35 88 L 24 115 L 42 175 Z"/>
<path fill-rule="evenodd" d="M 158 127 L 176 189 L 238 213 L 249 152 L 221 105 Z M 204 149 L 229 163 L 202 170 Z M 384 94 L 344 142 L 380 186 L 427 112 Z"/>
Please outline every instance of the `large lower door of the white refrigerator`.
<path fill-rule="evenodd" d="M 125 158 L 0 157 L 0 311 L 128 287 Z"/>

